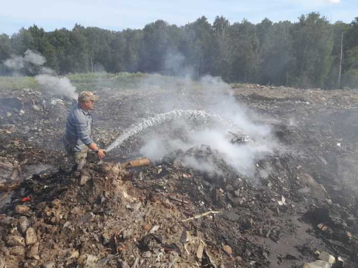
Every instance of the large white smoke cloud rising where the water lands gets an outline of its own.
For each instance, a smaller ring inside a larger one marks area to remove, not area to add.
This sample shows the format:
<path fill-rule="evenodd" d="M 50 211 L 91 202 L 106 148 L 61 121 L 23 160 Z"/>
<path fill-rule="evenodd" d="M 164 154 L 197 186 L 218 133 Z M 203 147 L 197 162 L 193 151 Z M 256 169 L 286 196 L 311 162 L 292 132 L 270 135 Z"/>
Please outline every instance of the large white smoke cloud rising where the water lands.
<path fill-rule="evenodd" d="M 140 149 L 141 154 L 153 161 L 160 161 L 172 151 L 180 149 L 185 152 L 190 148 L 207 144 L 212 151 L 218 151 L 221 159 L 235 168 L 238 173 L 254 176 L 256 161 L 264 159 L 277 148 L 277 143 L 271 134 L 270 120 L 267 124 L 262 123 L 263 120 L 260 120 L 260 123 L 257 120 L 254 121 L 252 118 L 258 115 L 252 116 L 252 112 L 248 108 L 239 104 L 229 85 L 220 78 L 204 77 L 199 82 L 185 83 L 190 98 L 187 98 L 185 91 L 176 94 L 178 89 L 172 84 L 168 85 L 173 94 L 170 100 L 163 103 L 162 109 L 166 110 L 168 107 L 174 109 L 196 108 L 200 103 L 203 106 L 200 109 L 233 121 L 240 131 L 248 134 L 254 140 L 254 143 L 232 143 L 231 139 L 234 136 L 228 132 L 228 126 L 222 123 L 202 128 L 196 126 L 193 129 L 189 122 L 175 120 L 172 122 L 171 129 L 180 130 L 180 134 L 172 138 L 166 134 L 159 134 L 159 132 L 147 133 L 142 136 L 145 145 Z M 189 103 L 190 99 L 193 100 L 192 103 Z M 205 161 L 188 156 L 183 159 L 183 164 L 212 173 L 215 168 L 215 163 L 212 161 L 213 158 L 208 156 Z M 215 172 L 219 173 L 219 170 L 215 170 Z"/>

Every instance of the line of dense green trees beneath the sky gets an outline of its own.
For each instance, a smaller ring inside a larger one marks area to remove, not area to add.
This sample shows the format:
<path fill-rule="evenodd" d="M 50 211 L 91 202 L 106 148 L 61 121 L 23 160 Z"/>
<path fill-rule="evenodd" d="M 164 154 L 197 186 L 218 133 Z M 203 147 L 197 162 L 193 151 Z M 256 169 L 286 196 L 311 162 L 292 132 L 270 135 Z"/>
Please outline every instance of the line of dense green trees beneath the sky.
<path fill-rule="evenodd" d="M 202 16 L 182 27 L 156 20 L 123 31 L 75 25 L 46 32 L 34 25 L 0 35 L 0 75 L 11 75 L 4 61 L 28 48 L 59 75 L 140 71 L 301 88 L 358 85 L 358 17 L 330 23 L 317 12 L 256 25 L 223 16 L 212 24 Z"/>

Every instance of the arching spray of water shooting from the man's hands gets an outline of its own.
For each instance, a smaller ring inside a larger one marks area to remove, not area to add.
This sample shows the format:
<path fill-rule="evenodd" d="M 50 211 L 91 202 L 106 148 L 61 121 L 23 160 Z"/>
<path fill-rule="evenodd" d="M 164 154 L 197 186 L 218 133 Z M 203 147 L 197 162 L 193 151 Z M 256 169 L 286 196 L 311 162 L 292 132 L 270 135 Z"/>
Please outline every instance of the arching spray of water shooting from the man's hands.
<path fill-rule="evenodd" d="M 177 118 L 187 118 L 187 119 L 200 119 L 203 123 L 206 123 L 208 119 L 216 120 L 219 123 L 223 123 L 228 126 L 228 130 L 235 131 L 243 136 L 244 141 L 251 141 L 247 135 L 244 135 L 238 127 L 232 123 L 231 120 L 222 118 L 217 114 L 211 114 L 206 111 L 201 110 L 174 110 L 167 113 L 160 113 L 153 117 L 147 119 L 140 119 L 139 123 L 132 124 L 129 128 L 127 128 L 122 135 L 120 135 L 112 144 L 110 144 L 106 152 L 113 150 L 114 148 L 119 147 L 124 141 L 129 139 L 132 136 L 138 135 L 140 132 L 150 128 L 159 126 L 164 122 L 169 122 L 175 120 Z"/>

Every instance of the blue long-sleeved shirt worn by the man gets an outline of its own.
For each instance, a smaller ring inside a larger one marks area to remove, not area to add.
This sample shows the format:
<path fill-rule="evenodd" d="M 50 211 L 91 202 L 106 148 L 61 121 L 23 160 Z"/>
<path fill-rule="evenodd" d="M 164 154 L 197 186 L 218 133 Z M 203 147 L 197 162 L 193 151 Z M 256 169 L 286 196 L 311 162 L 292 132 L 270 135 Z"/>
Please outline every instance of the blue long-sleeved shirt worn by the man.
<path fill-rule="evenodd" d="M 92 115 L 85 112 L 79 104 L 72 107 L 67 117 L 66 129 L 62 138 L 64 147 L 72 147 L 73 151 L 82 151 L 93 142 L 91 138 Z"/>

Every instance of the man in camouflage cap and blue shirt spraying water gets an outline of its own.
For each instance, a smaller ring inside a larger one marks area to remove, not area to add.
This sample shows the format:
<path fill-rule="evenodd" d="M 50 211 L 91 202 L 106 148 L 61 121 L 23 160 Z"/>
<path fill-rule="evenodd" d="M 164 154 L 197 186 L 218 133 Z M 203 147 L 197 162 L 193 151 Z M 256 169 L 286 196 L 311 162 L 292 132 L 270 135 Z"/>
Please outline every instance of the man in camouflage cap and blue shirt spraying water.
<path fill-rule="evenodd" d="M 92 116 L 89 110 L 94 109 L 95 101 L 98 101 L 98 95 L 94 95 L 91 91 L 83 91 L 79 94 L 78 104 L 72 108 L 67 117 L 66 130 L 62 138 L 67 154 L 81 167 L 85 163 L 88 148 L 100 159 L 105 157 L 105 150 L 99 149 L 91 138 Z"/>

